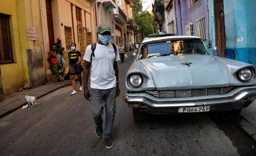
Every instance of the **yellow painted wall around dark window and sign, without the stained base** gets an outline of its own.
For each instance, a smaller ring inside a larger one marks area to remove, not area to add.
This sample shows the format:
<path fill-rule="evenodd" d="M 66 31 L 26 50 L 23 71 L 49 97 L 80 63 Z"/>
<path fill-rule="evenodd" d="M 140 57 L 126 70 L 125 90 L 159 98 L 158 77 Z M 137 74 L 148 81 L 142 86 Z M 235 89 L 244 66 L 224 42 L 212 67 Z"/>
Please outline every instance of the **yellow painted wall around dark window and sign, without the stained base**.
<path fill-rule="evenodd" d="M 30 84 L 27 50 L 41 49 L 41 20 L 38 1 L 1 0 L 0 13 L 10 15 L 10 33 L 14 63 L 1 66 L 3 93 L 19 91 L 24 83 Z M 26 28 L 36 27 L 37 41 L 27 40 Z"/>

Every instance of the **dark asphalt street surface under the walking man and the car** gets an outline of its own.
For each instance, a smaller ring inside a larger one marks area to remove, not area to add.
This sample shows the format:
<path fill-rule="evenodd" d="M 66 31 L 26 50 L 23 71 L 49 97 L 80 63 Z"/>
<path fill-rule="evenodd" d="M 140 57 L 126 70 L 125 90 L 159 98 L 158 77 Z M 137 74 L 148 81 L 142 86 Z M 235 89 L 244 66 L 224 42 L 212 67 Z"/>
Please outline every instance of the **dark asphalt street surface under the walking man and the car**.
<path fill-rule="evenodd" d="M 83 91 L 64 87 L 35 108 L 0 119 L 0 155 L 256 155 L 255 143 L 229 119 L 211 114 L 148 115 L 134 122 L 122 100 L 132 58 L 119 64 L 121 95 L 113 126 L 114 147 L 96 137 Z M 104 119 L 104 117 L 103 117 Z"/>

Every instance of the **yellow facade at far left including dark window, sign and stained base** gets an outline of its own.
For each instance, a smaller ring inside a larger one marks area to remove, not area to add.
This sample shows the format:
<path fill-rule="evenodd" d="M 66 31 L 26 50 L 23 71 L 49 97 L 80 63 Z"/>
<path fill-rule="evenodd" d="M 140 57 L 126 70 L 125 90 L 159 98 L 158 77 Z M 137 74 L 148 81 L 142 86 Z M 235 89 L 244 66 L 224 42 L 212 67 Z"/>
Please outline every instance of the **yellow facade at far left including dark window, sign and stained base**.
<path fill-rule="evenodd" d="M 39 1 L 1 1 L 2 96 L 45 84 Z"/>

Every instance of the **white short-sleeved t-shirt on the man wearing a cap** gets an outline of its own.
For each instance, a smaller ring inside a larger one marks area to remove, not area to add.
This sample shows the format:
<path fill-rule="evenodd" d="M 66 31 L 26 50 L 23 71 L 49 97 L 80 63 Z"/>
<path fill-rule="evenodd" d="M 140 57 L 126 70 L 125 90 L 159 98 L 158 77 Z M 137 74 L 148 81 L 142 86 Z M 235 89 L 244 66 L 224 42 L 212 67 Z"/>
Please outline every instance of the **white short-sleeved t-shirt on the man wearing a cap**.
<path fill-rule="evenodd" d="M 87 46 L 85 56 L 83 56 L 83 59 L 88 62 L 91 61 L 91 47 L 92 45 Z M 107 45 L 97 43 L 94 55 L 92 56 L 90 87 L 99 90 L 116 87 L 114 61 L 120 61 L 118 48 L 115 56 L 114 48 L 110 42 Z"/>

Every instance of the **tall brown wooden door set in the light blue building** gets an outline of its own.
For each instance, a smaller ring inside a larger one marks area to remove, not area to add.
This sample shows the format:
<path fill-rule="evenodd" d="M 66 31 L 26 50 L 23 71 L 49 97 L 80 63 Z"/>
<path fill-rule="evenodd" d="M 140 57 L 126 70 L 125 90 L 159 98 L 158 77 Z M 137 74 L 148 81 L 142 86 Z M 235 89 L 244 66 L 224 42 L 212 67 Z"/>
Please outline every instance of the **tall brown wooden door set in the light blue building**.
<path fill-rule="evenodd" d="M 216 47 L 219 47 L 218 56 L 225 57 L 226 31 L 225 31 L 225 14 L 223 0 L 214 1 L 215 15 L 215 41 Z"/>

